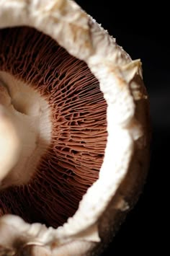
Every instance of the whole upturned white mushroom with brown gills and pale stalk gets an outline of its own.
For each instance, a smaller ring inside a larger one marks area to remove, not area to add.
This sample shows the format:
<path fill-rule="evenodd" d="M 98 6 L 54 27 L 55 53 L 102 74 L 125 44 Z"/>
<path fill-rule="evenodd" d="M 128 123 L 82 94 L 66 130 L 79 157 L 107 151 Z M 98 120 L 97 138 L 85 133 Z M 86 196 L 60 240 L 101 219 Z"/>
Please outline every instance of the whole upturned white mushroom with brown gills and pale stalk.
<path fill-rule="evenodd" d="M 1 1 L 0 27 L 0 252 L 99 255 L 146 179 L 141 63 L 73 1 Z"/>

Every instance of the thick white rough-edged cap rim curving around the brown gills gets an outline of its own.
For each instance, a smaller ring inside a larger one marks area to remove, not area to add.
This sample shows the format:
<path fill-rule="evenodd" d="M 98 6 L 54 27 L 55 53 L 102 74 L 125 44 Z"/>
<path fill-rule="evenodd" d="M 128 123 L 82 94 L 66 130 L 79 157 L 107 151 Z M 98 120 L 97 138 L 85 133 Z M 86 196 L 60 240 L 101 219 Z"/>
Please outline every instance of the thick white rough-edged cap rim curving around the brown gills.
<path fill-rule="evenodd" d="M 2 0 L 0 27 L 30 26 L 87 63 L 107 101 L 107 146 L 99 180 L 58 229 L 0 219 L 1 255 L 99 255 L 133 207 L 146 179 L 150 120 L 141 63 L 69 0 Z M 17 218 L 17 219 L 16 219 Z"/>

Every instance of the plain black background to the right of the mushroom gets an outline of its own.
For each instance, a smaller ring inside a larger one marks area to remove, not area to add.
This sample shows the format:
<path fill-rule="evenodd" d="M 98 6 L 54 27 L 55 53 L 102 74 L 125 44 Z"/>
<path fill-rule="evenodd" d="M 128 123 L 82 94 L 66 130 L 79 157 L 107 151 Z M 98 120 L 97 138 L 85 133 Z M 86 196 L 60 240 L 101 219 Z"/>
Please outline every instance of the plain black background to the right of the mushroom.
<path fill-rule="evenodd" d="M 76 1 L 133 59 L 143 63 L 143 79 L 151 104 L 152 143 L 148 179 L 137 205 L 128 214 L 104 255 L 166 255 L 166 190 L 169 173 L 170 79 L 169 8 L 161 1 Z M 169 235 L 168 235 L 169 236 Z"/>

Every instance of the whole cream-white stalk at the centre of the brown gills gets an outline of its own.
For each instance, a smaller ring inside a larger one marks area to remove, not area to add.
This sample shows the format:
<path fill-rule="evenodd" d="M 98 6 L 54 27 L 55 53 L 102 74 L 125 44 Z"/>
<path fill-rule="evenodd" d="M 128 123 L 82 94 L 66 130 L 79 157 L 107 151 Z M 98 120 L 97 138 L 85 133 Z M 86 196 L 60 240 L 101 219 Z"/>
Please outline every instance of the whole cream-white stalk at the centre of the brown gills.
<path fill-rule="evenodd" d="M 40 94 L 1 71 L 0 189 L 30 180 L 50 144 L 50 126 L 48 103 Z"/>

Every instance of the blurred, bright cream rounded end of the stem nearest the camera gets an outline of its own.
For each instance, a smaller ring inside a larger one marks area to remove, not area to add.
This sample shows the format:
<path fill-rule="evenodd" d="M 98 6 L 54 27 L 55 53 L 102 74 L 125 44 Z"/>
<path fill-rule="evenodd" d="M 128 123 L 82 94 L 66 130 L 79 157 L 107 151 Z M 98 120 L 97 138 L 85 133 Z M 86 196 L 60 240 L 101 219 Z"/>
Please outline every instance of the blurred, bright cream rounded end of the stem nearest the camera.
<path fill-rule="evenodd" d="M 9 111 L 0 104 L 0 188 L 19 159 L 21 143 Z"/>

